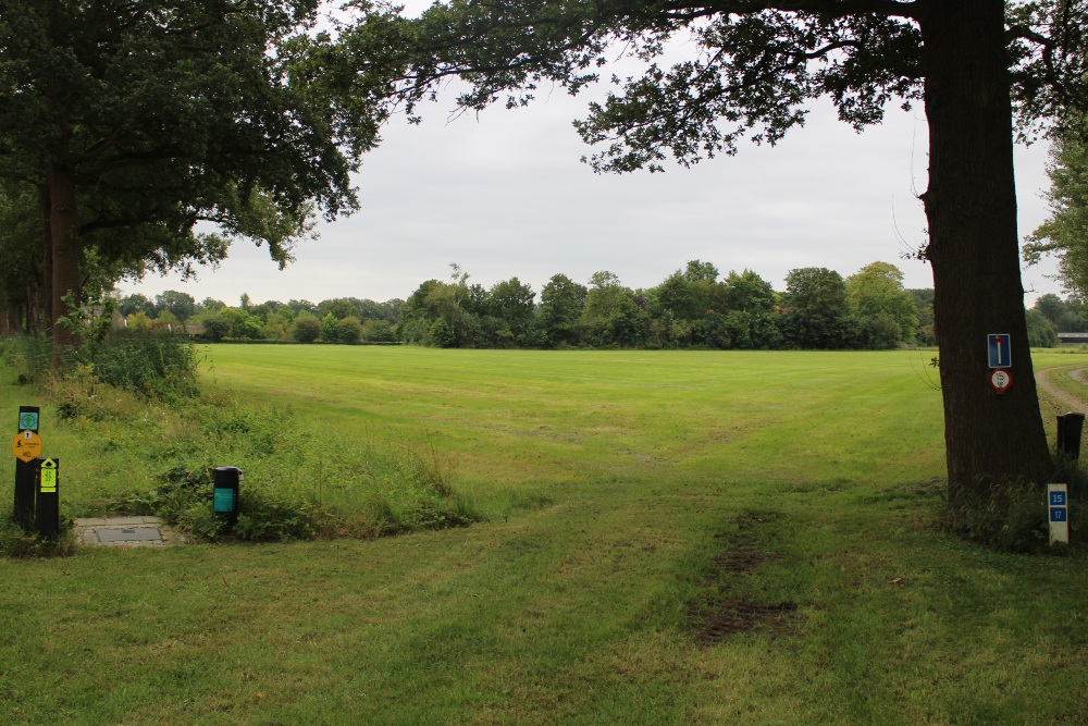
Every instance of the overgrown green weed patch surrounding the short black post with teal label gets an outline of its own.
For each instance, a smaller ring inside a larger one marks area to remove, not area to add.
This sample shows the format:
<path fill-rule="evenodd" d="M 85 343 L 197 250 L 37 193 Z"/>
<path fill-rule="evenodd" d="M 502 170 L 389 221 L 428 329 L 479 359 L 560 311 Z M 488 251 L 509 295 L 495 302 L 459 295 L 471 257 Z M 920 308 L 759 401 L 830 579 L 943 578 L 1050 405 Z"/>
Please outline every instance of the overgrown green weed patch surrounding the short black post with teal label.
<path fill-rule="evenodd" d="M 223 395 L 154 403 L 87 379 L 52 386 L 88 451 L 123 454 L 91 483 L 74 481 L 73 516 L 152 515 L 195 540 L 290 541 L 465 527 L 481 519 L 433 453 L 338 435 L 283 405 Z M 246 477 L 237 521 L 212 509 L 212 470 Z"/>

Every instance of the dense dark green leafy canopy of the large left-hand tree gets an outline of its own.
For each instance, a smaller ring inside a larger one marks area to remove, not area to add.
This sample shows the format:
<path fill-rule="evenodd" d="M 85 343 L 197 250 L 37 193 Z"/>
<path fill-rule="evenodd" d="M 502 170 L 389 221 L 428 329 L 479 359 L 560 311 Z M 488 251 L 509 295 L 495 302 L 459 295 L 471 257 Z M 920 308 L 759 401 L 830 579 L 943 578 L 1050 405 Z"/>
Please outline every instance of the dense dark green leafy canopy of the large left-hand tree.
<path fill-rule="evenodd" d="M 245 237 L 282 267 L 313 213 L 356 208 L 349 175 L 385 88 L 325 85 L 320 7 L 0 0 L 0 179 L 48 194 L 54 308 L 78 298 L 85 245 L 139 275 L 215 262 Z"/>

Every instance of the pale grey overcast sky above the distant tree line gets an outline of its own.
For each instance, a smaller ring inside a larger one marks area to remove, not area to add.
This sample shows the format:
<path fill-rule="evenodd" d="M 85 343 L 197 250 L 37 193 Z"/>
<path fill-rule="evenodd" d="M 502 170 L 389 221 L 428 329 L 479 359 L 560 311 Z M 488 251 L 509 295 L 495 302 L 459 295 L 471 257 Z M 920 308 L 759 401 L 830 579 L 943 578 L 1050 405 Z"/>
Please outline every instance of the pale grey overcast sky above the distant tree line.
<path fill-rule="evenodd" d="M 777 147 L 742 141 L 735 157 L 664 174 L 598 175 L 580 163 L 592 149 L 571 121 L 585 97 L 556 88 L 526 109 L 489 109 L 447 121 L 453 93 L 423 109 L 423 124 L 395 119 L 356 177 L 362 208 L 322 222 L 320 238 L 279 271 L 263 248 L 237 243 L 218 270 L 197 281 L 151 275 L 122 294 L 164 290 L 237 305 L 292 298 L 407 298 L 421 282 L 448 280 L 449 263 L 484 287 L 517 276 L 539 294 L 556 273 L 585 283 L 608 270 L 630 287 L 651 287 L 688 260 L 722 275 L 751 269 L 784 290 L 794 268 L 843 276 L 877 261 L 897 264 L 907 287 L 931 287 L 928 266 L 904 255 L 925 239 L 915 195 L 926 187 L 926 122 L 920 108 L 889 110 L 856 134 L 830 104 L 813 107 L 804 128 Z M 1042 145 L 1017 148 L 1023 237 L 1047 216 Z M 1028 268 L 1028 304 L 1061 293 L 1054 266 Z"/>

